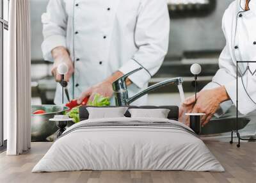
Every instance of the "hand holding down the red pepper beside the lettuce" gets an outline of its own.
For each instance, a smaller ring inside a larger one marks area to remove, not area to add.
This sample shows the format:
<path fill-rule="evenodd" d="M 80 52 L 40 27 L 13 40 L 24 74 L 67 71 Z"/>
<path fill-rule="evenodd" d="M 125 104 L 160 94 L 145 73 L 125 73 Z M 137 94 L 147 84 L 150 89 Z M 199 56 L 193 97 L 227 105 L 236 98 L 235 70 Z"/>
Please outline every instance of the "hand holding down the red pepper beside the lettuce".
<path fill-rule="evenodd" d="M 116 79 L 119 77 L 124 76 L 124 74 L 120 71 L 115 72 L 112 76 L 108 77 L 105 81 L 102 83 L 96 84 L 92 87 L 90 87 L 88 90 L 84 91 L 79 99 L 77 100 L 77 104 L 81 104 L 83 100 L 86 97 L 89 97 L 89 101 L 92 101 L 94 96 L 98 93 L 99 95 L 102 95 L 103 97 L 112 97 L 113 95 L 113 87 L 112 84 Z M 131 81 L 127 79 L 126 81 L 127 86 L 131 84 Z"/>

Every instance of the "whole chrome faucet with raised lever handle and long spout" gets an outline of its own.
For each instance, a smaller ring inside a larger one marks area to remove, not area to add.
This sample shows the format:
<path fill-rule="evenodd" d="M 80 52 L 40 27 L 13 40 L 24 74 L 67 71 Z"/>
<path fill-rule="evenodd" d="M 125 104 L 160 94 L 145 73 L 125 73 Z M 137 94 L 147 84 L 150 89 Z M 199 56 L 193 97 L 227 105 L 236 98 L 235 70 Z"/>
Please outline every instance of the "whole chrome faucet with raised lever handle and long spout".
<path fill-rule="evenodd" d="M 161 88 L 168 84 L 180 85 L 183 83 L 182 77 L 175 77 L 173 79 L 168 79 L 166 81 L 156 83 L 152 86 L 149 86 L 147 89 L 145 89 L 145 90 L 137 93 L 133 97 L 129 98 L 125 81 L 126 81 L 127 77 L 129 77 L 131 74 L 134 74 L 135 72 L 138 72 L 141 69 L 142 69 L 142 67 L 137 68 L 136 70 L 133 70 L 132 72 L 125 74 L 124 76 L 120 77 L 113 83 L 113 90 L 114 90 L 116 106 L 129 106 L 129 104 L 131 104 L 135 100 L 140 99 L 140 97 L 142 97 L 143 95 L 146 95 L 147 93 L 152 92 L 152 91 L 156 90 L 157 88 Z"/>

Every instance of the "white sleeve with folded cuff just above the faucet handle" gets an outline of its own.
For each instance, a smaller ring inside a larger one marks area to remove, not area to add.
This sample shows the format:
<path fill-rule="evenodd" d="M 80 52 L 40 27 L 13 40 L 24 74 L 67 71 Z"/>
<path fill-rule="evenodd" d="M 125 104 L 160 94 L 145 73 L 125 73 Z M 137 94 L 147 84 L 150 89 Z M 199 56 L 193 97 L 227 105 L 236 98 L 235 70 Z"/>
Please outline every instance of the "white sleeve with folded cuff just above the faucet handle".
<path fill-rule="evenodd" d="M 123 74 L 127 74 L 143 67 L 143 70 L 129 77 L 139 88 L 143 88 L 161 67 L 168 51 L 170 33 L 166 0 L 142 2 L 135 29 L 135 44 L 138 52 L 119 69 Z"/>

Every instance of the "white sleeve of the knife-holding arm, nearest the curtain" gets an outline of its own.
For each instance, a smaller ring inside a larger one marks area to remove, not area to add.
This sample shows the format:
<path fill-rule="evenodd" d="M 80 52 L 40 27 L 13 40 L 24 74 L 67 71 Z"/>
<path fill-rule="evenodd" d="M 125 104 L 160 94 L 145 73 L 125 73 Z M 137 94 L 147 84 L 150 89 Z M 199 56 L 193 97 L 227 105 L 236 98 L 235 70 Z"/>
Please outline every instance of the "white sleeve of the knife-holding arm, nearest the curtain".
<path fill-rule="evenodd" d="M 63 0 L 50 0 L 47 12 L 42 15 L 44 60 L 53 61 L 51 51 L 55 47 L 67 47 L 67 12 Z"/>

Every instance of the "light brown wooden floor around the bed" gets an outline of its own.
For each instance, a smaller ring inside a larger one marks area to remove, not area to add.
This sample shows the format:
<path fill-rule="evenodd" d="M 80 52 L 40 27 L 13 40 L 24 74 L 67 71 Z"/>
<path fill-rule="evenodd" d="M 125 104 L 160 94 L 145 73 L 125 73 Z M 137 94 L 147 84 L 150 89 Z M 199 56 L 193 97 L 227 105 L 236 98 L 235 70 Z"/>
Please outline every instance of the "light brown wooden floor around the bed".
<path fill-rule="evenodd" d="M 31 173 L 31 169 L 51 147 L 51 143 L 32 143 L 29 152 L 20 156 L 0 154 L 0 182 L 256 182 L 256 143 L 236 144 L 205 141 L 224 166 L 224 173 L 189 171 L 74 171 Z"/>

